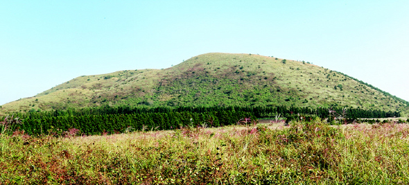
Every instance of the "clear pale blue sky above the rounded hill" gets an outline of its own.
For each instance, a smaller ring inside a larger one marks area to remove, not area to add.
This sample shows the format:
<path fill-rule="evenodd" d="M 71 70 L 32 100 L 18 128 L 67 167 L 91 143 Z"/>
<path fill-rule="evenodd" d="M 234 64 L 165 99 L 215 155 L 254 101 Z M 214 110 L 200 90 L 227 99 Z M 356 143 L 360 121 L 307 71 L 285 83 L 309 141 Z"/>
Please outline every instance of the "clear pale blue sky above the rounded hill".
<path fill-rule="evenodd" d="M 209 52 L 305 60 L 409 100 L 409 1 L 0 1 L 0 105 Z"/>

